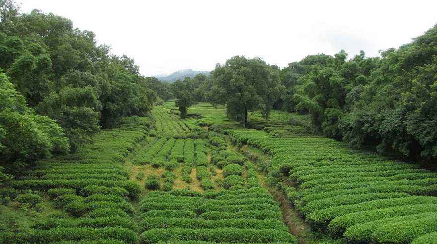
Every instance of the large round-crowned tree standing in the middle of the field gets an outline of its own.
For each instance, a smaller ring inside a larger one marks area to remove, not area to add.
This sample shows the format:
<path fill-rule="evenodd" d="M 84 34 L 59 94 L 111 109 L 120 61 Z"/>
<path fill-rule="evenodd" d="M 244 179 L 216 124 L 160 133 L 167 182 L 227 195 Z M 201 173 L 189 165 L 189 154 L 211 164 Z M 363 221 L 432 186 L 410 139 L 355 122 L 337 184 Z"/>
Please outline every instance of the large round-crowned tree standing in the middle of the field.
<path fill-rule="evenodd" d="M 212 72 L 214 85 L 210 97 L 213 103 L 226 104 L 229 118 L 247 126 L 247 112 L 260 111 L 268 117 L 284 86 L 278 69 L 262 58 L 234 56 Z"/>

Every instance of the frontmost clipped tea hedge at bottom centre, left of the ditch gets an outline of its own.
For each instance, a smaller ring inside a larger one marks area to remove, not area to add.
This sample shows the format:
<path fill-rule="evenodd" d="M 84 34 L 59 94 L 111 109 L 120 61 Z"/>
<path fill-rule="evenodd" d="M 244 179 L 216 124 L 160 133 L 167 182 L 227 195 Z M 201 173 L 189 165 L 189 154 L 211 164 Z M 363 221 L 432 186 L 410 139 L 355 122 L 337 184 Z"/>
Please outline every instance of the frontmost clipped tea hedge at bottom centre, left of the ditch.
<path fill-rule="evenodd" d="M 141 234 L 140 239 L 145 244 L 167 242 L 177 238 L 181 241 L 207 241 L 207 242 L 239 242 L 239 243 L 270 243 L 288 242 L 297 243 L 295 237 L 288 232 L 277 230 L 253 229 L 152 229 Z"/>

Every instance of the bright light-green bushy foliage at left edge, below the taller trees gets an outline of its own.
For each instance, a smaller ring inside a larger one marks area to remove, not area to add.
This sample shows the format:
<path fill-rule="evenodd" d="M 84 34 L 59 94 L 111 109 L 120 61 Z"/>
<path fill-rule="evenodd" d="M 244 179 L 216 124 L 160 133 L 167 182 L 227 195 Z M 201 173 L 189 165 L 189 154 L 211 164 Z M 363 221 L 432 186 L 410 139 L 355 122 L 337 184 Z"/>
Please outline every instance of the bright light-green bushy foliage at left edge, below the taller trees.
<path fill-rule="evenodd" d="M 0 69 L 0 162 L 12 172 L 19 171 L 22 163 L 68 150 L 68 141 L 61 127 L 54 120 L 37 115 L 28 108 L 25 98 L 15 91 Z"/>

